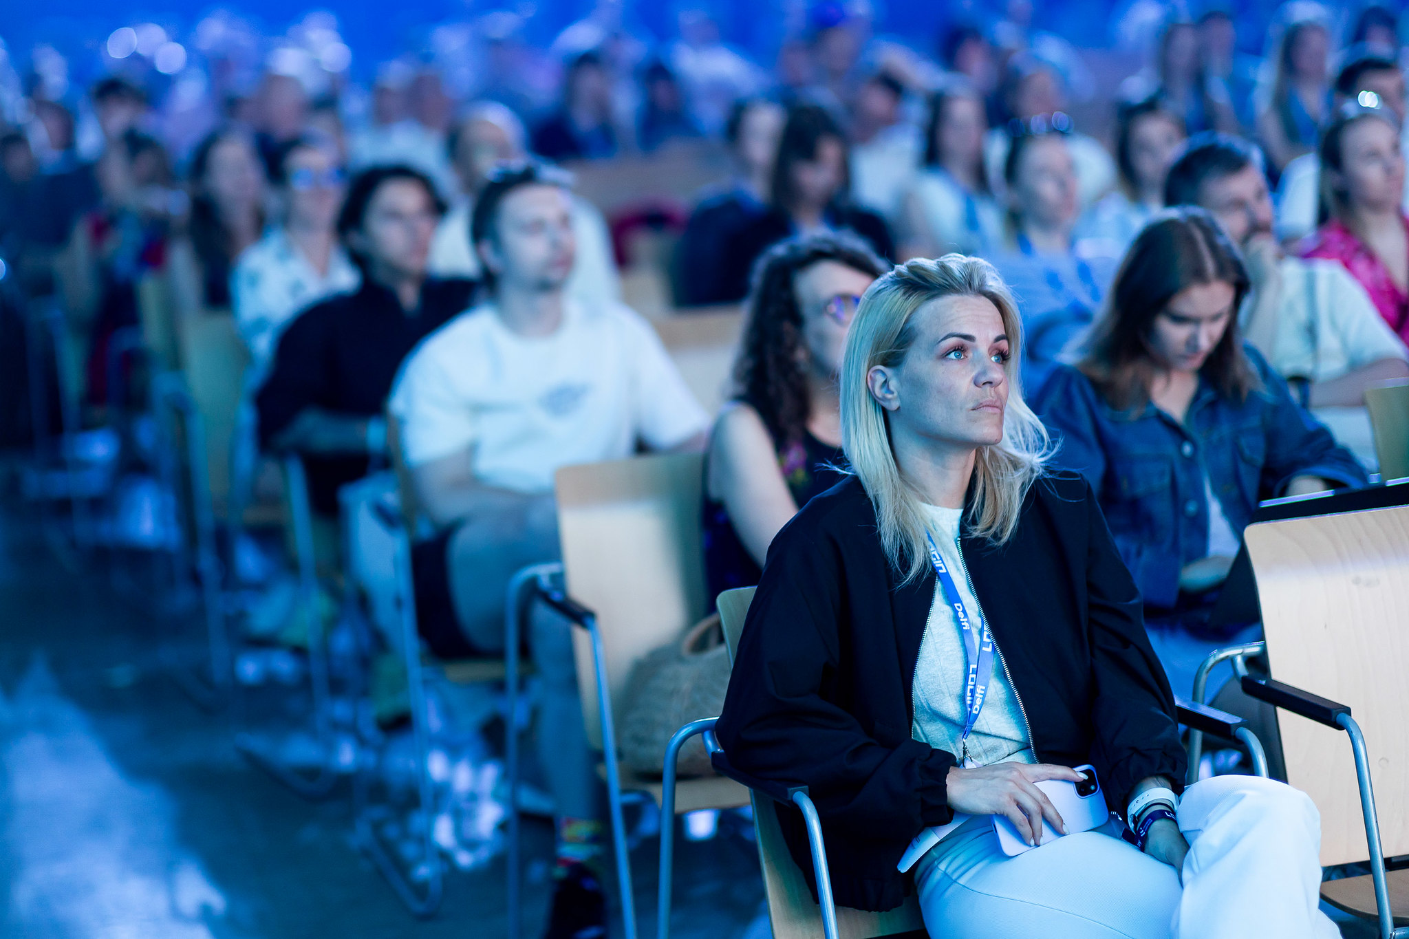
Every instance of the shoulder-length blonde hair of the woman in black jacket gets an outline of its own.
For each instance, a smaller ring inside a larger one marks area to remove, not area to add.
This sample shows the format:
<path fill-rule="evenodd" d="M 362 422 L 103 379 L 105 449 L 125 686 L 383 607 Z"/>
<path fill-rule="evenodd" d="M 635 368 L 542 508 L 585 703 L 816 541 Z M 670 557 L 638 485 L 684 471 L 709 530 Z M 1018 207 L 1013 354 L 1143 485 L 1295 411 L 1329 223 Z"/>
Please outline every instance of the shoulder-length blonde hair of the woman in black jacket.
<path fill-rule="evenodd" d="M 1013 351 L 1003 372 L 1009 382 L 1003 439 L 979 446 L 974 463 L 974 498 L 967 521 L 979 538 L 1003 543 L 1017 528 L 1027 490 L 1043 474 L 1051 441 L 1023 401 L 1019 386 L 1022 320 L 1007 286 L 991 263 L 965 255 L 896 265 L 876 280 L 857 310 L 841 360 L 841 446 L 876 511 L 886 557 L 910 581 L 926 570 L 923 500 L 896 466 L 886 411 L 871 397 L 867 374 L 875 366 L 898 367 L 916 338 L 914 313 L 943 297 L 983 297 L 998 307 Z"/>

